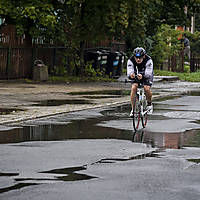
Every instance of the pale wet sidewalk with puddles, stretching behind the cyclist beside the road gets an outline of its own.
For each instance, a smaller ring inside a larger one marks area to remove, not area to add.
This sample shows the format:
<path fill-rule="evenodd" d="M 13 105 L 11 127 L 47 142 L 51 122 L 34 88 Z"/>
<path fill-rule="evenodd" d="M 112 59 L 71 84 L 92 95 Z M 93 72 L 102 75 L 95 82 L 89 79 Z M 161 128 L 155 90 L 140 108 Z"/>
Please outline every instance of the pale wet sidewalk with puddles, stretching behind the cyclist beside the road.
<path fill-rule="evenodd" d="M 200 90 L 200 84 L 177 81 L 174 77 L 156 77 L 152 87 L 153 99 L 178 95 L 191 90 Z M 109 94 L 88 93 L 95 91 L 113 91 L 113 94 L 112 92 Z M 115 94 L 114 91 L 119 91 L 119 94 Z M 122 91 L 126 94 L 122 94 Z M 71 92 L 82 92 L 82 94 L 74 95 Z M 130 84 L 125 84 L 123 79 L 112 83 L 62 84 L 0 81 L 0 125 L 83 109 L 129 103 L 129 92 Z M 9 109 L 10 112 L 8 112 Z"/>

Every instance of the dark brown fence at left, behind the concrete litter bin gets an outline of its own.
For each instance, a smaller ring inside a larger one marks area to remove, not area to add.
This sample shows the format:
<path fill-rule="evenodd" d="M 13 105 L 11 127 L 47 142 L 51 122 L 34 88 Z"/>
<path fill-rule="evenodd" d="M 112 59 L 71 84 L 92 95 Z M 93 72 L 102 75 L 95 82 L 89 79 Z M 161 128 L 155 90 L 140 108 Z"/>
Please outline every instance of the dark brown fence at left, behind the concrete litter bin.
<path fill-rule="evenodd" d="M 67 48 L 0 48 L 0 79 L 32 78 L 34 61 L 42 60 L 51 73 L 55 66 L 63 65 Z"/>

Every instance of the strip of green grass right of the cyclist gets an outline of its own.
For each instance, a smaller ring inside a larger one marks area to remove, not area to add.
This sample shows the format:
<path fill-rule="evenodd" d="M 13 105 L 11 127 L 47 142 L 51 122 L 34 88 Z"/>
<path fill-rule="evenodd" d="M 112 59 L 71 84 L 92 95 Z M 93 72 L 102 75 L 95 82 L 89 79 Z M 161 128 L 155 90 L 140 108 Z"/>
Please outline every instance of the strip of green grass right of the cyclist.
<path fill-rule="evenodd" d="M 189 82 L 200 82 L 200 71 L 197 72 L 170 72 L 162 70 L 154 70 L 155 76 L 178 76 L 180 80 Z"/>

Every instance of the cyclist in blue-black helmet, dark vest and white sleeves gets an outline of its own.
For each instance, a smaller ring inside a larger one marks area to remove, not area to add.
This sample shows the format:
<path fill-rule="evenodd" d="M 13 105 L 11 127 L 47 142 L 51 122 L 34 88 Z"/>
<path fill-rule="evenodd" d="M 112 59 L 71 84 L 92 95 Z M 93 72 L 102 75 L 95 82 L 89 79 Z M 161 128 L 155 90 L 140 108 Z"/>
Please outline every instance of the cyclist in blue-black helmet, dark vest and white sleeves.
<path fill-rule="evenodd" d="M 134 106 L 134 97 L 137 90 L 137 78 L 144 85 L 144 91 L 147 98 L 147 109 L 148 114 L 153 113 L 152 105 L 152 92 L 151 85 L 153 83 L 153 61 L 149 55 L 146 54 L 146 51 L 142 47 L 137 47 L 133 51 L 133 56 L 128 59 L 127 62 L 127 77 L 132 80 L 131 87 L 131 104 L 132 110 L 130 117 L 133 116 L 133 106 Z"/>

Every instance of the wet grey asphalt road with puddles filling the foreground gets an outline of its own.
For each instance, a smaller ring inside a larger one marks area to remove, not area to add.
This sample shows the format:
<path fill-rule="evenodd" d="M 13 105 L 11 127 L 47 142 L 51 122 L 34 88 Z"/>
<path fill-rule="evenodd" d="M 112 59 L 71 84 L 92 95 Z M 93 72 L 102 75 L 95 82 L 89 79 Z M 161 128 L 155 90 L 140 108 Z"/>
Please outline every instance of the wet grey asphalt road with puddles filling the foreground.
<path fill-rule="evenodd" d="M 136 134 L 129 109 L 2 126 L 0 199 L 199 200 L 199 93 L 155 101 Z"/>

